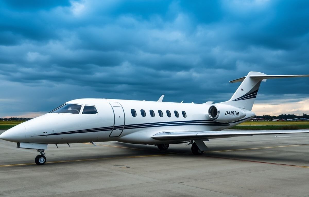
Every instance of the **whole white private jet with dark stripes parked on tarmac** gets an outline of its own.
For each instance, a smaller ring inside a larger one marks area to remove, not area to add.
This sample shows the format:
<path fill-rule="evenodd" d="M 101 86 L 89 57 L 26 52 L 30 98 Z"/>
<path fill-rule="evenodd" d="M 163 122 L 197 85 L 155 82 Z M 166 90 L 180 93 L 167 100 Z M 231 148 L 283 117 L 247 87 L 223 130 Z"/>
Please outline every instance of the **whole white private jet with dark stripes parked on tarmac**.
<path fill-rule="evenodd" d="M 272 78 L 309 75 L 266 75 L 249 72 L 230 81 L 241 82 L 225 102 L 171 103 L 158 101 L 83 98 L 71 100 L 49 113 L 3 132 L 0 138 L 17 143 L 17 148 L 36 149 L 37 165 L 46 162 L 48 144 L 118 141 L 155 145 L 167 150 L 170 144 L 188 143 L 194 155 L 201 155 L 205 142 L 235 136 L 308 133 L 309 131 L 228 131 L 255 116 L 252 106 L 261 82 Z M 225 130 L 225 131 L 222 131 Z"/>

